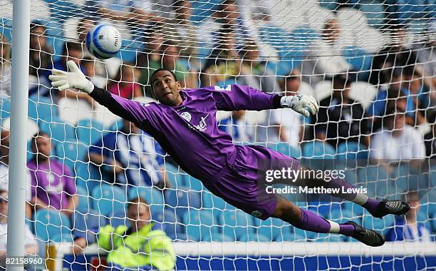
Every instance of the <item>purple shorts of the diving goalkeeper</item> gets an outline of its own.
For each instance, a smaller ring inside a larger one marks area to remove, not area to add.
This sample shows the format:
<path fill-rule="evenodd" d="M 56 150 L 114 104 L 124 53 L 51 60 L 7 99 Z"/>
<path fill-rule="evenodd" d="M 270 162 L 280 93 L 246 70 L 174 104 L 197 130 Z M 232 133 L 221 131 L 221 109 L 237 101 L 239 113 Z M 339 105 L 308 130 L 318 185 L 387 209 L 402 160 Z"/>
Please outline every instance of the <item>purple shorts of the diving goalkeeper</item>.
<path fill-rule="evenodd" d="M 204 182 L 211 193 L 234 207 L 261 220 L 271 217 L 277 206 L 277 197 L 266 193 L 261 170 L 292 168 L 299 165 L 291 158 L 275 150 L 259 145 L 237 145 L 237 153 L 214 180 Z"/>

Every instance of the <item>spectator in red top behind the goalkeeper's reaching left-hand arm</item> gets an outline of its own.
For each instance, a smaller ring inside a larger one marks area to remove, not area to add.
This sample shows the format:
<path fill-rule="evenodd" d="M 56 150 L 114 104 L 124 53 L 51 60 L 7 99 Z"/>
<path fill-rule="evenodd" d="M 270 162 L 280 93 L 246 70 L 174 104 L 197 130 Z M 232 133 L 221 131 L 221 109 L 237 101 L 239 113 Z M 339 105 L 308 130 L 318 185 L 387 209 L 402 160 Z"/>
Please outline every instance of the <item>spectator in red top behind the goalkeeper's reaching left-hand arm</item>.
<path fill-rule="evenodd" d="M 142 88 L 136 83 L 139 78 L 140 71 L 132 63 L 123 63 L 115 79 L 108 83 L 108 91 L 128 99 L 144 96 Z"/>

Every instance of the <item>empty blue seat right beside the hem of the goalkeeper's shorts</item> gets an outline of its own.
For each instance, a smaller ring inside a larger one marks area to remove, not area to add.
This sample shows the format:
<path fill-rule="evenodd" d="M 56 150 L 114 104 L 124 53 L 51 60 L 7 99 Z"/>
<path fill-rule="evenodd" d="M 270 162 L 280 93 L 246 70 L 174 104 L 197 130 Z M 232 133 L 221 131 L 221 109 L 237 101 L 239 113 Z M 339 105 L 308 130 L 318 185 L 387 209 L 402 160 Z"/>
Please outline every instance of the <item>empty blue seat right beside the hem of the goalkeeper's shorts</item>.
<path fill-rule="evenodd" d="M 242 210 L 224 210 L 220 218 L 223 225 L 223 233 L 232 237 L 232 240 L 239 240 L 242 235 L 254 233 L 253 220 L 251 216 Z"/>

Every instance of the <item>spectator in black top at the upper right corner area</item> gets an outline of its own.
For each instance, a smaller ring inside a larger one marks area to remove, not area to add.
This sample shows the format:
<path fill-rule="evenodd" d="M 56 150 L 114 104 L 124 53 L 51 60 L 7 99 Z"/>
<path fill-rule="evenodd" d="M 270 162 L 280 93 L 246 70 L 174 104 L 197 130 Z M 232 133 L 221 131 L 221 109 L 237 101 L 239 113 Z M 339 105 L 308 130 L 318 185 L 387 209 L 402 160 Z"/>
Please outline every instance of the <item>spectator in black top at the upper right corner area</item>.
<path fill-rule="evenodd" d="M 390 31 L 390 44 L 380 50 L 373 58 L 370 70 L 370 83 L 375 86 L 389 83 L 393 68 L 410 68 L 415 66 L 415 51 L 406 46 L 407 26 L 395 24 Z M 403 73 L 403 71 L 401 71 Z"/>

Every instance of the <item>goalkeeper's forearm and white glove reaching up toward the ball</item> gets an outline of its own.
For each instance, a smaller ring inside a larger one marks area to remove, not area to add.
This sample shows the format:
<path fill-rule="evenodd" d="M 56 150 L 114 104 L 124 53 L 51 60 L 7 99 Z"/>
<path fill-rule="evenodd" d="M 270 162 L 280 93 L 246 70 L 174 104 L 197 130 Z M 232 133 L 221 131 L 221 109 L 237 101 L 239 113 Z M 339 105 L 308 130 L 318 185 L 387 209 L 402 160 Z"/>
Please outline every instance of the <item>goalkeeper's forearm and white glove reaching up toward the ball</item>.
<path fill-rule="evenodd" d="M 100 105 L 107 107 L 112 113 L 125 120 L 140 123 L 145 119 L 145 107 L 141 103 L 121 98 L 95 87 L 93 83 L 86 79 L 74 61 L 68 61 L 67 65 L 70 71 L 60 71 L 53 68 L 53 74 L 48 77 L 52 81 L 51 85 L 58 88 L 59 91 L 77 88 L 84 93 L 88 93 Z"/>

